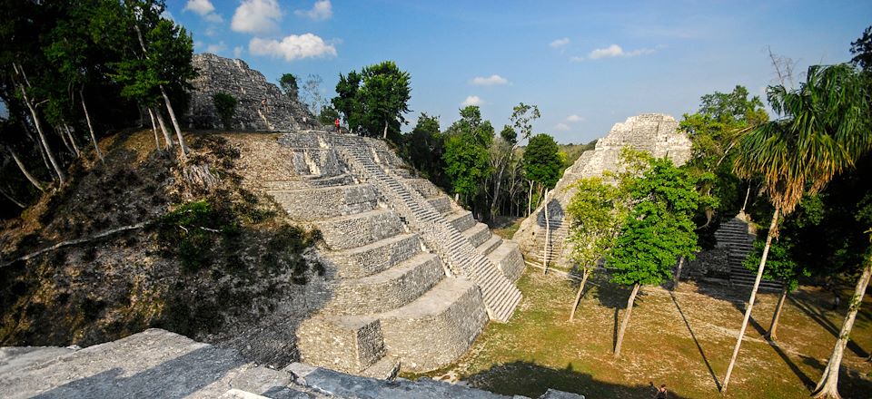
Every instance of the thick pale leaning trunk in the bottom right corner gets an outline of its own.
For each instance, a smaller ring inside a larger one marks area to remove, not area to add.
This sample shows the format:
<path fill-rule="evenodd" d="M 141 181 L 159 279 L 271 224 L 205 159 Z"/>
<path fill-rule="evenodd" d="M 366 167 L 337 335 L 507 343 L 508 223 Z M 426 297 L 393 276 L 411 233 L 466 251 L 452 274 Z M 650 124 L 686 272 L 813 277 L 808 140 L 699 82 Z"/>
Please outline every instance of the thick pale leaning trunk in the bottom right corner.
<path fill-rule="evenodd" d="M 838 394 L 838 368 L 842 365 L 842 355 L 845 354 L 845 346 L 847 340 L 851 336 L 851 328 L 854 327 L 854 320 L 857 319 L 857 311 L 863 304 L 863 297 L 866 295 L 866 287 L 869 285 L 869 276 L 872 275 L 872 258 L 866 259 L 866 267 L 863 268 L 863 274 L 857 280 L 857 287 L 854 288 L 854 297 L 851 297 L 850 306 L 847 308 L 845 322 L 842 323 L 842 329 L 838 332 L 836 345 L 833 346 L 833 354 L 829 356 L 827 368 L 824 369 L 824 375 L 820 376 L 820 381 L 817 382 L 815 392 L 811 395 L 816 398 L 839 398 Z"/>

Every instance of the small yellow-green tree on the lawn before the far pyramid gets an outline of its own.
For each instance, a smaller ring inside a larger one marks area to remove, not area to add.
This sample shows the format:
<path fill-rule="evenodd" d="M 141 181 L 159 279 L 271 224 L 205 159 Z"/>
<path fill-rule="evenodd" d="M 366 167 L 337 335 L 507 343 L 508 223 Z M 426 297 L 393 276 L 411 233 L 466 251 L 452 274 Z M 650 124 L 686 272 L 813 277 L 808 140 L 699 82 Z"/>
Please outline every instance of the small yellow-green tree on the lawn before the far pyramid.
<path fill-rule="evenodd" d="M 570 311 L 575 318 L 581 295 L 590 273 L 601 258 L 609 256 L 615 245 L 620 223 L 627 218 L 629 202 L 623 188 L 603 182 L 600 178 L 585 178 L 573 183 L 577 190 L 566 207 L 570 217 L 570 261 L 581 270 L 581 284 Z"/>

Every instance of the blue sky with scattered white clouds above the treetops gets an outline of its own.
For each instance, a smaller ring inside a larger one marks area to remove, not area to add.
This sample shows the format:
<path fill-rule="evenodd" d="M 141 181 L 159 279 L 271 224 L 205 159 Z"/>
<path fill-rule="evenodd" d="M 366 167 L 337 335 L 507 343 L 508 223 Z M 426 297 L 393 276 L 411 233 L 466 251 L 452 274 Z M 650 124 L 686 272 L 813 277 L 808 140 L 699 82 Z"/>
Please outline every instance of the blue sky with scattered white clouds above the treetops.
<path fill-rule="evenodd" d="M 196 53 L 241 58 L 271 82 L 384 60 L 411 73 L 420 112 L 442 129 L 466 103 L 497 131 L 518 102 L 537 104 L 534 132 L 587 142 L 641 112 L 680 119 L 703 94 L 774 83 L 768 48 L 797 63 L 840 63 L 872 24 L 868 1 L 329 1 L 167 0 Z"/>

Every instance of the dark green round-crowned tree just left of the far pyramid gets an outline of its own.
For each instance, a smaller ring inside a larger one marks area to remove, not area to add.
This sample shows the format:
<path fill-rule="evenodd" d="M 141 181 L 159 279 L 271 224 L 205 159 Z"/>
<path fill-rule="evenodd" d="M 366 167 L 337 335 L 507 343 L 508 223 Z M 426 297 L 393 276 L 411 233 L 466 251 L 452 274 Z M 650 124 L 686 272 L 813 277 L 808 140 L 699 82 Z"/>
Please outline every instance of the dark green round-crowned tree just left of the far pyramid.
<path fill-rule="evenodd" d="M 538 189 L 539 198 L 544 190 L 553 189 L 560 180 L 560 170 L 563 161 L 560 160 L 560 147 L 554 138 L 540 133 L 533 136 L 527 144 L 523 155 L 524 176 L 530 181 L 530 198 L 527 213 L 532 211 L 533 186 Z"/>

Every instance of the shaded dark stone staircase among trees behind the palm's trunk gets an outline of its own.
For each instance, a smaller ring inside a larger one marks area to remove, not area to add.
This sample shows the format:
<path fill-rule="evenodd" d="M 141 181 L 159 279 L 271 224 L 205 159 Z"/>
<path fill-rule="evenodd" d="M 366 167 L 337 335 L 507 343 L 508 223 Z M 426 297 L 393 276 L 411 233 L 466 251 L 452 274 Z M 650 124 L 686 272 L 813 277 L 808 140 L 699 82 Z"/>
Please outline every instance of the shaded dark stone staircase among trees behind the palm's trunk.
<path fill-rule="evenodd" d="M 723 223 L 715 232 L 719 247 L 728 248 L 729 283 L 734 287 L 754 287 L 757 272 L 742 265 L 754 250 L 754 234 L 748 233 L 748 222 L 736 217 Z M 780 291 L 780 281 L 761 279 L 759 289 Z"/>

